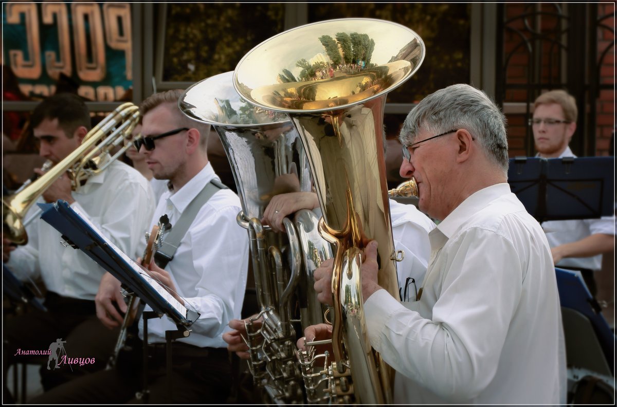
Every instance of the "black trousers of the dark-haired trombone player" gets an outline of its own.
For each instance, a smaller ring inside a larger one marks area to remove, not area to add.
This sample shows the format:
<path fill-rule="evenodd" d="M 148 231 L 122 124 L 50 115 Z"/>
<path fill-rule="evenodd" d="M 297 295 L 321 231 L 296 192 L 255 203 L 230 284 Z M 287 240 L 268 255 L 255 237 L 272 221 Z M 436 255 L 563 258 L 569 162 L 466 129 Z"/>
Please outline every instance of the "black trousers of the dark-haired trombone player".
<path fill-rule="evenodd" d="M 4 374 L 12 363 L 40 363 L 41 382 L 47 391 L 68 380 L 104 369 L 114 350 L 119 329 L 110 330 L 96 318 L 94 301 L 61 297 L 48 292 L 45 306 L 48 312 L 34 309 L 4 319 Z M 62 350 L 59 350 L 58 368 L 56 360 L 50 360 L 47 355 L 23 355 L 23 351 L 48 350 L 57 339 L 65 341 Z M 16 355 L 18 350 L 22 354 Z M 88 358 L 94 363 L 81 366 L 61 364 L 62 356 L 66 356 L 67 360 Z"/>

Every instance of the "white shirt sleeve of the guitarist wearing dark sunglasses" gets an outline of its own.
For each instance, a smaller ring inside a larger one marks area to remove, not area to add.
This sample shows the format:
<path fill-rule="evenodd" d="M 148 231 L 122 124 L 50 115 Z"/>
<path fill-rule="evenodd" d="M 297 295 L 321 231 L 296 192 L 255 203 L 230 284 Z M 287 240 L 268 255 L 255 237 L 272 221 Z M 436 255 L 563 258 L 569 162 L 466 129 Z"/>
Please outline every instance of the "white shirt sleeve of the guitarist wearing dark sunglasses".
<path fill-rule="evenodd" d="M 208 337 L 222 334 L 231 319 L 239 318 L 234 311 L 242 306 L 249 242 L 246 230 L 236 223 L 239 210 L 224 207 L 189 229 L 197 284 L 195 294 L 184 299 L 201 314 L 192 329 Z"/>

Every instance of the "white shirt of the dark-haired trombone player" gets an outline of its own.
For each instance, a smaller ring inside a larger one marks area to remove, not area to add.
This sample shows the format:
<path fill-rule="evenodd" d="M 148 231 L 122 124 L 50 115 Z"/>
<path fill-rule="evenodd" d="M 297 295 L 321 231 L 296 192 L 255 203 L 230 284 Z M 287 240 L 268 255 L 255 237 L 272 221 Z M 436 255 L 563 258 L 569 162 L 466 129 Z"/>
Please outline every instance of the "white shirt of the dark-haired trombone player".
<path fill-rule="evenodd" d="M 147 179 L 135 168 L 115 160 L 73 191 L 72 196 L 75 202 L 71 207 L 85 215 L 122 252 L 133 258 L 143 255 L 144 232 L 154 211 L 154 196 Z M 38 210 L 33 205 L 24 219 Z M 39 216 L 26 227 L 28 244 L 11 252 L 6 265 L 22 280 L 40 275 L 46 289 L 63 297 L 94 300 L 105 270 L 81 250 L 60 245 L 60 232 Z"/>

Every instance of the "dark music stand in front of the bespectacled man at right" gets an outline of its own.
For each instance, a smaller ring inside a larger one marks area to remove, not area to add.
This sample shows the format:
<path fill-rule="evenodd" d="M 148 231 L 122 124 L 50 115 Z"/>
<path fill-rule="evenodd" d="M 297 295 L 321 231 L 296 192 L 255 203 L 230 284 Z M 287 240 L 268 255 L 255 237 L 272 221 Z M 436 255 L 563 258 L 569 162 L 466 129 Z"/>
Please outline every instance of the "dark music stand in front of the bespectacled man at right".
<path fill-rule="evenodd" d="M 613 157 L 510 158 L 508 184 L 539 222 L 615 213 Z"/>

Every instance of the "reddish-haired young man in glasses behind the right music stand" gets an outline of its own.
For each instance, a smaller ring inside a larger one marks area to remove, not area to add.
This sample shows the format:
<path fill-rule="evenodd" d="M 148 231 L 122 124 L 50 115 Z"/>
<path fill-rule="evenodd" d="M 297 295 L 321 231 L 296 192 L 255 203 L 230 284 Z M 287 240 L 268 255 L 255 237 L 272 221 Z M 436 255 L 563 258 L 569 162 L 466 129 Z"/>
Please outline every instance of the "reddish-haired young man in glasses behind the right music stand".
<path fill-rule="evenodd" d="M 529 120 L 536 157 L 576 157 L 568 144 L 576 130 L 577 115 L 576 101 L 566 91 L 549 91 L 537 97 Z M 602 254 L 615 246 L 615 216 L 546 221 L 542 229 L 549 239 L 555 265 L 581 271 L 592 295 L 597 294 L 594 274 L 602 267 Z"/>

